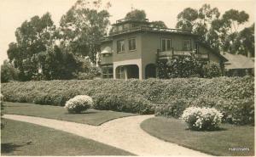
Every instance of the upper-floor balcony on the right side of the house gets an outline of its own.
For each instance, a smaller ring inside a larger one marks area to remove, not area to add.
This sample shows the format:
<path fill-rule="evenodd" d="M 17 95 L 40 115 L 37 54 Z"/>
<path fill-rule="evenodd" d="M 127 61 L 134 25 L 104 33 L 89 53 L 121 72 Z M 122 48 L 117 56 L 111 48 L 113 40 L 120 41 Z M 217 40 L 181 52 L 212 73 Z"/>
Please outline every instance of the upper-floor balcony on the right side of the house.
<path fill-rule="evenodd" d="M 172 59 L 175 56 L 195 56 L 195 59 L 208 59 L 208 54 L 206 53 L 194 53 L 193 51 L 183 51 L 183 50 L 170 50 L 158 52 L 158 59 Z"/>

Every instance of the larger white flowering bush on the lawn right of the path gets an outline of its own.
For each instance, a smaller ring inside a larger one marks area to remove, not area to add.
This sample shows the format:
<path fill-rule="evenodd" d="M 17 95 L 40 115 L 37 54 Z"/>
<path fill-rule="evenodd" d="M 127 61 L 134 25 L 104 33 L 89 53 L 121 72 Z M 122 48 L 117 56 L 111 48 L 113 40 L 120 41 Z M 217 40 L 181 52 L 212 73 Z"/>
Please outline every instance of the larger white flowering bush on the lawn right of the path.
<path fill-rule="evenodd" d="M 189 107 L 183 111 L 182 120 L 190 129 L 214 130 L 221 123 L 223 115 L 214 108 Z"/>

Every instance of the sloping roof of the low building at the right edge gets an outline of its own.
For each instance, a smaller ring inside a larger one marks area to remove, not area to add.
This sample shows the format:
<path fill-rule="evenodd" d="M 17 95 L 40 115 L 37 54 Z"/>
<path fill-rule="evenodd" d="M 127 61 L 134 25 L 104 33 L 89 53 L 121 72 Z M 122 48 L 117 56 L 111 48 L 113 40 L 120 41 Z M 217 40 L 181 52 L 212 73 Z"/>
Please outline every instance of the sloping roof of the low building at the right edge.
<path fill-rule="evenodd" d="M 254 68 L 253 59 L 247 58 L 244 55 L 224 53 L 223 56 L 229 60 L 225 63 L 225 69 L 227 70 Z"/>

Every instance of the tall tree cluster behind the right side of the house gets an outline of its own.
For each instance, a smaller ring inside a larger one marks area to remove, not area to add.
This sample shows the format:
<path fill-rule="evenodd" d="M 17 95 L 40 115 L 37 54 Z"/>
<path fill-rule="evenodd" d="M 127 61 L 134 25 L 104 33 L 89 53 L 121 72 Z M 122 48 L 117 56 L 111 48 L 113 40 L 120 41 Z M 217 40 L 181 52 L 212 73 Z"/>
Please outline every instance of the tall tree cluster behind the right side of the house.
<path fill-rule="evenodd" d="M 239 26 L 245 24 L 248 18 L 249 15 L 245 11 L 236 9 L 227 10 L 221 15 L 218 8 L 211 8 L 210 4 L 206 3 L 198 10 L 184 8 L 177 14 L 176 27 L 198 34 L 200 42 L 207 43 L 217 52 L 253 55 L 254 43 L 250 41 L 253 41 L 254 29 L 247 28 L 239 31 Z M 238 34 L 240 34 L 239 37 Z"/>

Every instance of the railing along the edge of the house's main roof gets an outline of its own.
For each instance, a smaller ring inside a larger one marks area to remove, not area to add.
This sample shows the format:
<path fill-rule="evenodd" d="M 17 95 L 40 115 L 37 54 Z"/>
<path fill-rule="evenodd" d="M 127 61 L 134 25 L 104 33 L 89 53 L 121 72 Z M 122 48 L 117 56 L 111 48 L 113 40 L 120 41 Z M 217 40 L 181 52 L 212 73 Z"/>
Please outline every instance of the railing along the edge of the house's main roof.
<path fill-rule="evenodd" d="M 157 28 L 152 26 L 137 26 L 137 27 L 131 27 L 126 28 L 122 31 L 113 31 L 109 33 L 109 36 L 114 36 L 118 34 L 123 34 L 126 32 L 132 32 L 132 31 L 157 31 L 157 32 L 174 32 L 174 33 L 189 33 L 191 34 L 191 31 L 188 30 L 180 30 L 180 29 L 170 29 L 170 28 Z"/>

